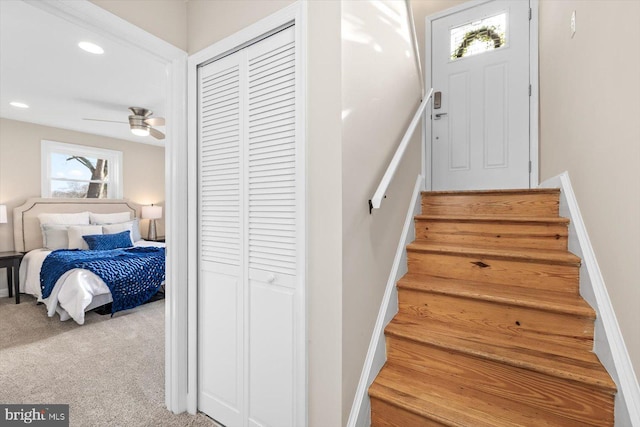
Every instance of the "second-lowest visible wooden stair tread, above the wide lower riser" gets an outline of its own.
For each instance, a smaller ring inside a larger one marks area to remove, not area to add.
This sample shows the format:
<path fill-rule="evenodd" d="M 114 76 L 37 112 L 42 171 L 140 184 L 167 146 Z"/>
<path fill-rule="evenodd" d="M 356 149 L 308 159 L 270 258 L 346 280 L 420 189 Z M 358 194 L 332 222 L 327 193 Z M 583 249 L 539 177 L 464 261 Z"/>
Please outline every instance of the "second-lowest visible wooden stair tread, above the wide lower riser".
<path fill-rule="evenodd" d="M 615 393 L 616 386 L 598 357 L 589 351 L 535 340 L 526 336 L 492 333 L 480 328 L 458 328 L 439 321 L 419 322 L 398 313 L 385 335 L 446 348 L 475 357 L 565 378 Z"/>

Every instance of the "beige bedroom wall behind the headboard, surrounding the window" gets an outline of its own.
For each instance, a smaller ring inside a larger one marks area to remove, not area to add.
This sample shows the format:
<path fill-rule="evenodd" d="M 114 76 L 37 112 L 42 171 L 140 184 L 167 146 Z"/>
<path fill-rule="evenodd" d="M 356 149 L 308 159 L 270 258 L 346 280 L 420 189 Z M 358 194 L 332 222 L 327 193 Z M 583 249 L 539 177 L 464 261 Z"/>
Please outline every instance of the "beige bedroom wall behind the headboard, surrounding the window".
<path fill-rule="evenodd" d="M 0 251 L 13 250 L 13 214 L 29 197 L 40 197 L 40 141 L 66 142 L 122 151 L 123 196 L 140 204 L 164 202 L 164 148 L 15 120 L 0 119 L 0 203 L 8 224 L 0 225 Z M 141 221 L 143 235 L 148 221 Z M 164 223 L 158 222 L 158 235 Z M 6 277 L 0 275 L 0 289 Z"/>

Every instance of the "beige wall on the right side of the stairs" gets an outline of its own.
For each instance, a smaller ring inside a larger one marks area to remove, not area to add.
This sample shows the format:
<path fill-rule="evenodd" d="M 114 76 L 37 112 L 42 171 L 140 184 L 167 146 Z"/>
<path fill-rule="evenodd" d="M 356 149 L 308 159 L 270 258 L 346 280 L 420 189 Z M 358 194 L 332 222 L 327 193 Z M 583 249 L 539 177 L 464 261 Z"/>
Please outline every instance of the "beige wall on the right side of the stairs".
<path fill-rule="evenodd" d="M 569 32 L 576 11 L 577 31 Z M 640 2 L 540 2 L 542 180 L 568 171 L 640 369 Z"/>

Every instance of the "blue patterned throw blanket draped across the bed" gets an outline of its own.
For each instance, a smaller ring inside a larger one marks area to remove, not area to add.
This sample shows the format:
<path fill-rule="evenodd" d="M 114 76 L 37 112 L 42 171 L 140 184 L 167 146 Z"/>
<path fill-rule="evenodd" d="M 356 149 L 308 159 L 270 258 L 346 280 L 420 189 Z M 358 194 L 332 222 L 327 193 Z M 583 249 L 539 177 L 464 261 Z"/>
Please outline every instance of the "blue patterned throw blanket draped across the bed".
<path fill-rule="evenodd" d="M 109 287 L 113 314 L 143 304 L 154 296 L 164 282 L 164 265 L 165 250 L 158 247 L 53 251 L 45 258 L 40 271 L 42 298 L 51 295 L 64 273 L 83 268 L 96 274 Z"/>

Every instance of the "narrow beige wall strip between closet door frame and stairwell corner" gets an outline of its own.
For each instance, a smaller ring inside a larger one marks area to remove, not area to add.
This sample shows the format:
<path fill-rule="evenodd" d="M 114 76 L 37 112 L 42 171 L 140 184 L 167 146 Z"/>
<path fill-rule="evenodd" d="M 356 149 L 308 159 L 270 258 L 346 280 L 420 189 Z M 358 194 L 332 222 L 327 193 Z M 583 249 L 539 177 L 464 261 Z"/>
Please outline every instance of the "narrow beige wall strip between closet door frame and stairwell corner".
<path fill-rule="evenodd" d="M 308 3 L 307 37 L 309 426 L 325 427 L 344 409 L 340 2 Z"/>

